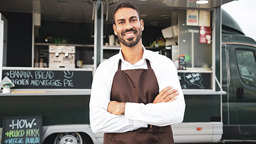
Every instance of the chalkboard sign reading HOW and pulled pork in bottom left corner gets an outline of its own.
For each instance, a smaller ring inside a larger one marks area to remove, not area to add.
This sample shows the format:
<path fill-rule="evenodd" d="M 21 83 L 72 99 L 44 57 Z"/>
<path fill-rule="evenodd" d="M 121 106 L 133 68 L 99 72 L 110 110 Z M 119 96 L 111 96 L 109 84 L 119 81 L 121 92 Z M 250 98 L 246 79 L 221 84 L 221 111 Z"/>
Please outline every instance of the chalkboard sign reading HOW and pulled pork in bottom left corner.
<path fill-rule="evenodd" d="M 2 144 L 42 143 L 42 116 L 3 117 Z"/>

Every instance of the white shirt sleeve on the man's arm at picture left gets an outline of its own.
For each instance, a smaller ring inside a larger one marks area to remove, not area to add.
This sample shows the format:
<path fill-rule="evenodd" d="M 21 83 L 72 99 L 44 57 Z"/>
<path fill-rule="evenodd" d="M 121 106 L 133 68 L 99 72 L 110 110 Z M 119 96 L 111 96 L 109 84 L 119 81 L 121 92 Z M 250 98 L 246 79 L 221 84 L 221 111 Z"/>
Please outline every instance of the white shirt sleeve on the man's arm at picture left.
<path fill-rule="evenodd" d="M 147 127 L 145 122 L 107 112 L 110 90 L 107 86 L 104 71 L 105 68 L 99 66 L 93 77 L 90 98 L 90 125 L 92 131 L 94 133 L 121 133 Z"/>

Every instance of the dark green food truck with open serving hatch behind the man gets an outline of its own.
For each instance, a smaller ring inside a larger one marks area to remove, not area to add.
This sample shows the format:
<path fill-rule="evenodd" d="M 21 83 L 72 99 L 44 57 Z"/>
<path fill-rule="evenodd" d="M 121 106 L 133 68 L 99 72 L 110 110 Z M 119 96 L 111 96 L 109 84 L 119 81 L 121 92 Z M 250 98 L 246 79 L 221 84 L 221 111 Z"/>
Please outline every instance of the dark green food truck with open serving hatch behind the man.
<path fill-rule="evenodd" d="M 119 52 L 112 13 L 121 1 L 0 2 L 0 77 L 15 85 L 0 93 L 2 143 L 13 142 L 6 118 L 22 116 L 42 117 L 42 143 L 103 142 L 90 129 L 91 83 Z M 221 10 L 230 1 L 131 0 L 145 22 L 143 45 L 178 69 L 186 110 L 172 125 L 175 143 L 256 141 L 256 42 Z"/>

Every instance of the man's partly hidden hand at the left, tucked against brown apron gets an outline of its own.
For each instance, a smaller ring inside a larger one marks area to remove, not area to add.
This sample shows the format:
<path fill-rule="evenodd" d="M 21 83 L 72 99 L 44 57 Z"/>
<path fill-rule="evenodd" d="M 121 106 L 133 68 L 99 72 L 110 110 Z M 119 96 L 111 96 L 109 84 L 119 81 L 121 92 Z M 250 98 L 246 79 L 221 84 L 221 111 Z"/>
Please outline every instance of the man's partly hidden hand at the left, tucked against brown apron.
<path fill-rule="evenodd" d="M 114 115 L 124 115 L 125 102 L 110 101 L 107 111 Z"/>

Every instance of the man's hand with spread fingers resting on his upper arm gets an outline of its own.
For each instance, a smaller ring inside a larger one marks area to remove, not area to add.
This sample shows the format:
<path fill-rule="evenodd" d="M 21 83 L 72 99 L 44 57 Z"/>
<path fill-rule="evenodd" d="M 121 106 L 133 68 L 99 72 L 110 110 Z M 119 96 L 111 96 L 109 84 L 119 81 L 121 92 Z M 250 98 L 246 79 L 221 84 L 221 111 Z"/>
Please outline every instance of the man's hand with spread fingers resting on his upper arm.
<path fill-rule="evenodd" d="M 153 103 L 160 103 L 160 102 L 171 102 L 177 99 L 177 95 L 179 92 L 177 89 L 172 89 L 172 86 L 165 87 L 155 98 Z"/>

